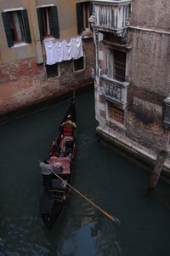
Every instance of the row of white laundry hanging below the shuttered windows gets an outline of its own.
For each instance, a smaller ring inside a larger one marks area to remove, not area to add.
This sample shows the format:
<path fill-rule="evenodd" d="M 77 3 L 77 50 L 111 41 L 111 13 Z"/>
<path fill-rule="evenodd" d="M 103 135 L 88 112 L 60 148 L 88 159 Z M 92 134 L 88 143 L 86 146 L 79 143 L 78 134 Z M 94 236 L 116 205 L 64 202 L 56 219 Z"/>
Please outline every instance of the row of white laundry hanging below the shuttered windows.
<path fill-rule="evenodd" d="M 77 60 L 83 56 L 81 37 L 71 38 L 69 43 L 66 40 L 61 42 L 47 40 L 44 41 L 44 46 L 48 65 L 54 65 L 54 63 L 61 61 L 70 61 L 71 59 Z"/>

